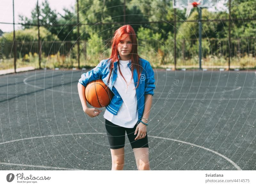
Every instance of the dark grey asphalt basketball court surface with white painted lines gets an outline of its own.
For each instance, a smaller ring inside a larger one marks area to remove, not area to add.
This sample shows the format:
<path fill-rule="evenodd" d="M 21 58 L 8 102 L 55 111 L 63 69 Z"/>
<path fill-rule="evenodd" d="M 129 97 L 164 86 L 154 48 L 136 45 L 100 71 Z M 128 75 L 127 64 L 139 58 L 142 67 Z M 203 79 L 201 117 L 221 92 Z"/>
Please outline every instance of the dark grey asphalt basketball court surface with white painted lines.
<path fill-rule="evenodd" d="M 154 72 L 151 170 L 256 169 L 254 71 Z M 111 170 L 104 113 L 83 112 L 81 73 L 0 76 L 0 170 Z M 126 136 L 124 170 L 136 169 Z"/>

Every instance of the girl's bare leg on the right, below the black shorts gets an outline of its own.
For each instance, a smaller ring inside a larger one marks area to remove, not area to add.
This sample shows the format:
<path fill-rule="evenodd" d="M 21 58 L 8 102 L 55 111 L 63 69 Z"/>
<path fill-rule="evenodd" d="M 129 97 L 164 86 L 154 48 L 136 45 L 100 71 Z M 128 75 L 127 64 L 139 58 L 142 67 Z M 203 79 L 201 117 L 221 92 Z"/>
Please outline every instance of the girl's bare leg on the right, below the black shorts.
<path fill-rule="evenodd" d="M 148 147 L 133 149 L 138 170 L 150 170 Z"/>

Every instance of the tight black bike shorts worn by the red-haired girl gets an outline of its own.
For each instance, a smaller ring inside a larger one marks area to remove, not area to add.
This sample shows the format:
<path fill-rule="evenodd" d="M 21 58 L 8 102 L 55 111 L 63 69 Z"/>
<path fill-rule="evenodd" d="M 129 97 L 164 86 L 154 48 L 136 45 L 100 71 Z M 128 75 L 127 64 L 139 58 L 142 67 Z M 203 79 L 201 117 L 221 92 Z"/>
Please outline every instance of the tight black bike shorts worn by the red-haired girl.
<path fill-rule="evenodd" d="M 134 128 L 125 128 L 118 126 L 111 121 L 105 119 L 105 127 L 108 135 L 108 142 L 110 145 L 110 149 L 120 149 L 124 147 L 125 143 L 125 131 L 133 148 L 143 148 L 148 147 L 148 134 L 142 139 L 135 140 L 135 137 L 138 135 L 134 135 L 137 124 Z"/>

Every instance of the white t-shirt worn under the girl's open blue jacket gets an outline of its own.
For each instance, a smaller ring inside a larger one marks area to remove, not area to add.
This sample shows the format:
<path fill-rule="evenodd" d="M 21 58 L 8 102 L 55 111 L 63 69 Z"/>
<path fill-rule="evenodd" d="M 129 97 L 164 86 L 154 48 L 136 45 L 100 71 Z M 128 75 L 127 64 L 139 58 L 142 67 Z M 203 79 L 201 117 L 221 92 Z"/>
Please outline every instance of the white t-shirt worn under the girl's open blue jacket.
<path fill-rule="evenodd" d="M 120 70 L 126 82 L 124 81 L 124 78 L 120 74 L 119 68 L 117 65 L 117 77 L 113 86 L 116 88 L 117 92 L 120 94 L 121 98 L 123 99 L 123 104 L 119 108 L 116 115 L 106 110 L 103 117 L 118 126 L 125 127 L 125 128 L 133 128 L 138 121 L 138 110 L 137 110 L 137 97 L 136 97 L 134 81 L 133 79 L 131 81 L 132 71 L 127 65 L 129 63 L 129 60 L 127 61 L 119 60 L 119 63 L 120 63 Z"/>

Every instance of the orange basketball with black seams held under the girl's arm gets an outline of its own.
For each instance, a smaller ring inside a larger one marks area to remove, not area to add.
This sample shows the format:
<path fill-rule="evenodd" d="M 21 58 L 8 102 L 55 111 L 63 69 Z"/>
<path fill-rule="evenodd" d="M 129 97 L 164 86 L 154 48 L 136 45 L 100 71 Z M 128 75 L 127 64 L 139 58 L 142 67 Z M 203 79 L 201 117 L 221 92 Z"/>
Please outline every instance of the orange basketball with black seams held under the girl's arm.
<path fill-rule="evenodd" d="M 112 91 L 102 80 L 95 80 L 85 87 L 86 101 L 93 107 L 107 106 L 113 97 Z"/>

